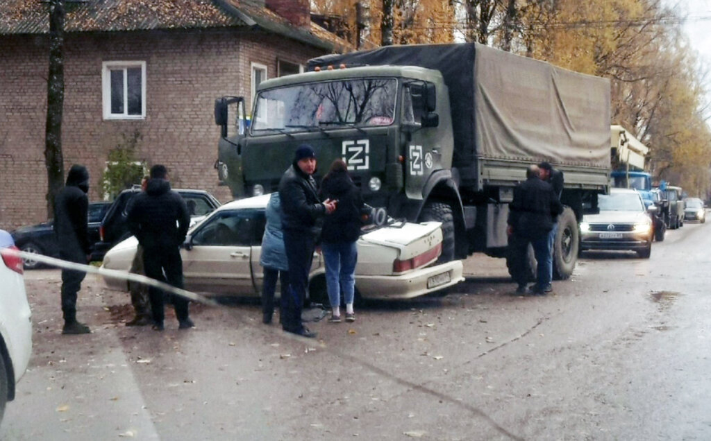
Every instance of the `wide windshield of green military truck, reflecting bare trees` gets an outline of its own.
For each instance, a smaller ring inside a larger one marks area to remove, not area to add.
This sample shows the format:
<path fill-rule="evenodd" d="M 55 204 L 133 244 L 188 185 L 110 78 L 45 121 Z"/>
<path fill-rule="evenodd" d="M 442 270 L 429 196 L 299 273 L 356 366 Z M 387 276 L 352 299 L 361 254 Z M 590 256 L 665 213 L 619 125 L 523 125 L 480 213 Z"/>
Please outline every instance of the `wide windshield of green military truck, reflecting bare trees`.
<path fill-rule="evenodd" d="M 395 121 L 395 78 L 357 78 L 267 89 L 257 95 L 252 134 L 343 126 L 389 126 Z"/>

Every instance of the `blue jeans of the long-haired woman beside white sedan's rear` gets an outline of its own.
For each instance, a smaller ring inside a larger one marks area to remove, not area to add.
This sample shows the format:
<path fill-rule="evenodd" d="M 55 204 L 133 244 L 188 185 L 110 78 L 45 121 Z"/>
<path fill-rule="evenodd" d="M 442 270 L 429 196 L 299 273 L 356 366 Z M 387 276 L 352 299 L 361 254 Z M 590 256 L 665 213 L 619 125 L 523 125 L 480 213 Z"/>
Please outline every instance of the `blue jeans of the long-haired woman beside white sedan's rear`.
<path fill-rule="evenodd" d="M 358 261 L 358 249 L 355 242 L 321 244 L 326 263 L 326 289 L 331 307 L 341 305 L 341 293 L 346 305 L 353 304 L 355 294 L 355 263 Z"/>

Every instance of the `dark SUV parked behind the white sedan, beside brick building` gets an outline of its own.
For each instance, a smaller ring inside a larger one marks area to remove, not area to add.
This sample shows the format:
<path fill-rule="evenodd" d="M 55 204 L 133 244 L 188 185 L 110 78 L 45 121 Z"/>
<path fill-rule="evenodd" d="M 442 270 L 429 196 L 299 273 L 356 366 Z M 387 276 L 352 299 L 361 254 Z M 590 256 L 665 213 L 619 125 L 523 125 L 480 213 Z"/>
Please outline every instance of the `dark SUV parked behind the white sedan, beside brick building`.
<path fill-rule="evenodd" d="M 213 195 L 203 190 L 173 189 L 188 204 L 191 224 L 203 219 L 205 215 L 220 207 L 220 202 Z M 99 241 L 94 245 L 91 260 L 101 261 L 112 246 L 131 236 L 126 222 L 132 199 L 141 192 L 141 187 L 136 186 L 130 190 L 122 191 L 106 212 L 104 220 L 99 227 Z"/>

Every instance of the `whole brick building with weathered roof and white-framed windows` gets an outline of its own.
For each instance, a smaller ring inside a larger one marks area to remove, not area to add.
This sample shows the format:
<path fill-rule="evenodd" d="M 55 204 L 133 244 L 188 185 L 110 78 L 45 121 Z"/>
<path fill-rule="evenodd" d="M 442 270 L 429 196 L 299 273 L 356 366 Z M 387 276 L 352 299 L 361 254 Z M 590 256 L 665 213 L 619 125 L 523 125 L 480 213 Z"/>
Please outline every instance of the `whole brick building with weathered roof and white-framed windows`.
<path fill-rule="evenodd" d="M 67 0 L 62 144 L 65 170 L 87 165 L 90 200 L 107 155 L 138 136 L 137 156 L 164 163 L 174 187 L 222 202 L 213 164 L 213 103 L 251 97 L 255 82 L 348 50 L 309 18 L 308 0 Z M 48 10 L 0 2 L 0 228 L 46 219 Z M 247 105 L 250 105 L 248 100 Z"/>

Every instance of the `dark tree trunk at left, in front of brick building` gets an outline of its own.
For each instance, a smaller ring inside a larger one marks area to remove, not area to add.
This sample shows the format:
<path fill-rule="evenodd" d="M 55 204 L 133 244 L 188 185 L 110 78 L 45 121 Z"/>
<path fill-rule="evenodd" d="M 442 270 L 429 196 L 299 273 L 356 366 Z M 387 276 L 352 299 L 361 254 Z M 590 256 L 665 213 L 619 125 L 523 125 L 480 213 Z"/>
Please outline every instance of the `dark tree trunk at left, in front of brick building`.
<path fill-rule="evenodd" d="M 62 156 L 62 111 L 64 107 L 64 0 L 49 4 L 49 76 L 45 167 L 47 168 L 47 214 L 54 216 L 54 200 L 64 185 Z"/>

